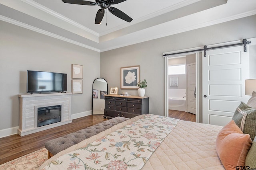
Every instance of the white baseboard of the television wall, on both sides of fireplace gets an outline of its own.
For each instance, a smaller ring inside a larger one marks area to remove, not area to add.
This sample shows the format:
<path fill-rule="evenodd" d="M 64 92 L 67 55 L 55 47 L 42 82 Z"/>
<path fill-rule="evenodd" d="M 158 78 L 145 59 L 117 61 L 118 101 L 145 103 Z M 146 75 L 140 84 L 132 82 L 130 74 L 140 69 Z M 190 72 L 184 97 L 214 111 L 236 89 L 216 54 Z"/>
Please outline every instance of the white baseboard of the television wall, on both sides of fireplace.
<path fill-rule="evenodd" d="M 80 118 L 80 117 L 88 116 L 88 115 L 91 115 L 91 114 L 92 114 L 91 110 L 80 112 L 80 113 L 76 113 L 76 114 L 71 114 L 71 119 L 73 120 L 73 119 L 77 119 L 77 118 Z M 7 136 L 10 136 L 10 135 L 18 134 L 18 129 L 19 129 L 19 127 L 16 126 L 16 127 L 11 127 L 11 128 L 0 130 L 0 138 L 7 137 Z"/>

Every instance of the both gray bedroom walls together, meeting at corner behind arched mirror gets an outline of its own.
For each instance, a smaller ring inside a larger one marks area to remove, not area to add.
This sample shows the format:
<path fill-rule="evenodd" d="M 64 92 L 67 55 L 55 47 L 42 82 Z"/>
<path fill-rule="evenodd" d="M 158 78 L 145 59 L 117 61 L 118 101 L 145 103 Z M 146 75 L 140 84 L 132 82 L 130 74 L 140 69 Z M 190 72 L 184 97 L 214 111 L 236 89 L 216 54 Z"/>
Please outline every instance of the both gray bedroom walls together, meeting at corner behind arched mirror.
<path fill-rule="evenodd" d="M 148 82 L 150 113 L 164 115 L 162 53 L 256 37 L 255 21 L 256 15 L 102 53 L 0 21 L 0 129 L 18 126 L 18 94 L 26 93 L 26 70 L 68 73 L 71 92 L 71 64 L 84 66 L 84 90 L 72 95 L 72 115 L 91 110 L 92 82 L 98 77 L 107 80 L 108 90 L 117 86 L 118 93 L 138 95 L 120 89 L 120 67 L 135 65 L 140 65 L 140 79 Z"/>

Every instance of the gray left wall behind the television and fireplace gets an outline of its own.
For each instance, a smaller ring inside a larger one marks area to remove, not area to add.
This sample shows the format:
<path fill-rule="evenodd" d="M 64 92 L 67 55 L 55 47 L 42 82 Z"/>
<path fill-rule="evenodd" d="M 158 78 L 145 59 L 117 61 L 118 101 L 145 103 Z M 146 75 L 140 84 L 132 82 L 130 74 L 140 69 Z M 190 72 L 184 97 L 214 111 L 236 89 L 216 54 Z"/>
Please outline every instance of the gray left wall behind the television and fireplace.
<path fill-rule="evenodd" d="M 0 21 L 0 37 L 1 130 L 19 125 L 18 94 L 26 94 L 26 70 L 67 73 L 71 92 L 71 64 L 83 65 L 83 94 L 72 95 L 71 114 L 91 110 L 100 53 L 4 21 Z"/>

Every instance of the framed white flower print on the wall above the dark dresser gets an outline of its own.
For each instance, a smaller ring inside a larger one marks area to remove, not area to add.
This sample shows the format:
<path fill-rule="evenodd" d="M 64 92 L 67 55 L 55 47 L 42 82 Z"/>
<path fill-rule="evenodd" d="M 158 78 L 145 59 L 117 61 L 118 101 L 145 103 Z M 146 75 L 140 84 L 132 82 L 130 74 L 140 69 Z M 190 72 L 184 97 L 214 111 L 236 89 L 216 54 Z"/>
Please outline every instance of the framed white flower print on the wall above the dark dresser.
<path fill-rule="evenodd" d="M 138 89 L 140 66 L 121 67 L 121 89 Z"/>

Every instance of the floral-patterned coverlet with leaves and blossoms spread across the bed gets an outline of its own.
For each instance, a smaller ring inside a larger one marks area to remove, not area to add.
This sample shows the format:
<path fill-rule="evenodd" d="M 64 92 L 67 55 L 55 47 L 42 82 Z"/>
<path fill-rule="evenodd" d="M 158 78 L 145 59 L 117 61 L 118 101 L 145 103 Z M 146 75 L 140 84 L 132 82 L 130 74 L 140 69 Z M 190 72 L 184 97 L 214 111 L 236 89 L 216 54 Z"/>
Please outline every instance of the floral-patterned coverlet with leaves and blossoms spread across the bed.
<path fill-rule="evenodd" d="M 179 119 L 143 115 L 116 131 L 52 160 L 44 170 L 141 169 Z"/>

